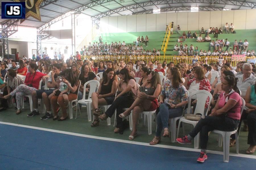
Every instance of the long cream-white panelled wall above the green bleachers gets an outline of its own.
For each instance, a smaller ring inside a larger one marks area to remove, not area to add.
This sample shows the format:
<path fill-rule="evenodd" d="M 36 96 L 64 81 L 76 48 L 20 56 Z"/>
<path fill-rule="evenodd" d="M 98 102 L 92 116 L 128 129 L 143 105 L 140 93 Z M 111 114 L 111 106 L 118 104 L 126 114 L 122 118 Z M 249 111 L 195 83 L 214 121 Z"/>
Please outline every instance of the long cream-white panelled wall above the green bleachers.
<path fill-rule="evenodd" d="M 256 29 L 256 9 L 110 16 L 100 18 L 100 31 L 165 31 L 166 25 L 170 22 L 174 22 L 174 29 L 180 25 L 181 30 L 224 27 L 226 22 L 233 23 L 235 29 Z"/>

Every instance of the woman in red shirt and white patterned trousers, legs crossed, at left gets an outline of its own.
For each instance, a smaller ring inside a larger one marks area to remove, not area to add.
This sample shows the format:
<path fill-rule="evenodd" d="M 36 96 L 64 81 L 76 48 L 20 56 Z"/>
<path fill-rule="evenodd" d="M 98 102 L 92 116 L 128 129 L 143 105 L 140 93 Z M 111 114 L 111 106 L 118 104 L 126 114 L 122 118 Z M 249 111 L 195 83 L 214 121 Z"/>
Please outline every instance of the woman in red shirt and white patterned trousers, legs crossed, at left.
<path fill-rule="evenodd" d="M 17 101 L 17 112 L 16 114 L 21 113 L 21 99 L 24 95 L 31 95 L 34 90 L 38 90 L 39 82 L 41 79 L 45 80 L 46 74 L 41 72 L 37 72 L 36 64 L 29 64 L 29 73 L 26 75 L 24 84 L 20 84 L 15 90 L 13 90 L 10 94 L 5 95 L 4 98 L 8 99 L 16 95 Z"/>

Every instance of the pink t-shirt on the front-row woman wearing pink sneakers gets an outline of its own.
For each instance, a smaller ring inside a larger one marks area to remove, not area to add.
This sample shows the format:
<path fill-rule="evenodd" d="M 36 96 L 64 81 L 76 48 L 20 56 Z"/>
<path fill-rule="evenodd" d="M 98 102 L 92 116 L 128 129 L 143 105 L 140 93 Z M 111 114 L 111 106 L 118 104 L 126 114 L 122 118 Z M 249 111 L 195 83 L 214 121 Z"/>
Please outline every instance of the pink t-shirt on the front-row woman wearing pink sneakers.
<path fill-rule="evenodd" d="M 227 117 L 240 120 L 241 118 L 241 109 L 242 109 L 242 100 L 238 93 L 232 90 L 229 94 L 225 95 L 225 92 L 222 92 L 219 96 L 219 107 L 224 107 L 225 103 L 228 100 L 236 101 L 236 105 L 227 112 Z"/>

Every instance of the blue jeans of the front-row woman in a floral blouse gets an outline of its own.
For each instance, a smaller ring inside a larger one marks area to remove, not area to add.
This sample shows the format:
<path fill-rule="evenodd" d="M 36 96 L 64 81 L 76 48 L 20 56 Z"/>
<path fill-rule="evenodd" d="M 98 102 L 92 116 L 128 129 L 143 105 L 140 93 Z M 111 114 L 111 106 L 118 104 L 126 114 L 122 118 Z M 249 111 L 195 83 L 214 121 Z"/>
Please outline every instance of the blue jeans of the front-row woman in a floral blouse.
<path fill-rule="evenodd" d="M 157 128 L 156 136 L 159 137 L 164 128 L 168 128 L 168 120 L 171 118 L 176 118 L 182 115 L 182 107 L 176 109 L 169 109 L 167 103 L 163 103 L 159 107 L 159 112 L 157 114 Z"/>

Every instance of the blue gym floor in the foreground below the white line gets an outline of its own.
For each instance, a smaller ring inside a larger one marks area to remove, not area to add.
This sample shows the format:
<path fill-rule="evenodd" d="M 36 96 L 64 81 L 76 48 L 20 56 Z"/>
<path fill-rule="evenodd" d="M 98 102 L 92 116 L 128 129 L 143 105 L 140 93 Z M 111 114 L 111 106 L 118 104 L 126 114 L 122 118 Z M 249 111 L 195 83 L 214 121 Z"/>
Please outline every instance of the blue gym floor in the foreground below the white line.
<path fill-rule="evenodd" d="M 255 169 L 256 159 L 80 137 L 0 124 L 0 169 Z"/>

